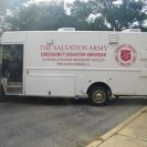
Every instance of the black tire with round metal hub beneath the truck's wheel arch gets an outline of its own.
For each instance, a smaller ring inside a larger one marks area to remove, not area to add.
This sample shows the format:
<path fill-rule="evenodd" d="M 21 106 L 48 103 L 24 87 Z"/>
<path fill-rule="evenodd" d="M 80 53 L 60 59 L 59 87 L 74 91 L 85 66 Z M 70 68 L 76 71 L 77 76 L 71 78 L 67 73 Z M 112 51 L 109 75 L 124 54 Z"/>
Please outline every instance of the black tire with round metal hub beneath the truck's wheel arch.
<path fill-rule="evenodd" d="M 103 86 L 95 86 L 90 91 L 90 101 L 95 106 L 105 106 L 109 102 L 108 90 Z"/>

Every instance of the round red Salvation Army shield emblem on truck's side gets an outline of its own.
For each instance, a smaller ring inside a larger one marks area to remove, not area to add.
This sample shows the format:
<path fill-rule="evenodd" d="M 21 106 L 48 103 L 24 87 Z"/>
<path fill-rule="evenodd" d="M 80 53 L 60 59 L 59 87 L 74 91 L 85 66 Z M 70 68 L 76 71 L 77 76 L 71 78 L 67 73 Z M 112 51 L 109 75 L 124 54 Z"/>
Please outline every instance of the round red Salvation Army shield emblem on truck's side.
<path fill-rule="evenodd" d="M 137 53 L 132 45 L 123 44 L 116 49 L 115 60 L 124 66 L 130 66 L 135 63 Z"/>

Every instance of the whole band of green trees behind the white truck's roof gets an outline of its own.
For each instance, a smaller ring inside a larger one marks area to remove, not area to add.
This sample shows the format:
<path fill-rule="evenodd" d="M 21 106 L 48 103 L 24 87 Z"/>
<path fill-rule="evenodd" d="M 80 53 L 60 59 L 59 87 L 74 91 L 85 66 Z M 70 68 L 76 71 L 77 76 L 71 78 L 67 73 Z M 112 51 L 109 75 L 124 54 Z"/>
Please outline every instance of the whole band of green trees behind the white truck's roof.
<path fill-rule="evenodd" d="M 29 3 L 29 0 L 0 2 L 0 25 L 4 30 L 124 30 L 144 28 L 145 0 L 75 0 L 67 11 L 63 1 Z M 25 4 L 24 4 L 25 2 Z M 28 2 L 28 3 L 27 3 Z M 14 9 L 15 8 L 15 9 Z M 6 11 L 8 11 L 6 13 Z"/>

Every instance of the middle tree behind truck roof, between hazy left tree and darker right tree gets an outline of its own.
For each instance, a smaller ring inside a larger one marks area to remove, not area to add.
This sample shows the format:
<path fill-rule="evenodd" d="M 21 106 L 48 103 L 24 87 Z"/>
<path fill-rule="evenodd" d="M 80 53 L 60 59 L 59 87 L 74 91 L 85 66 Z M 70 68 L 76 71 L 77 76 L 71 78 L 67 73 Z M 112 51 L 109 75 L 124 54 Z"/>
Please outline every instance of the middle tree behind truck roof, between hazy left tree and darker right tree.
<path fill-rule="evenodd" d="M 104 19 L 93 15 L 93 7 L 88 1 L 75 0 L 70 12 L 73 25 L 78 30 L 107 30 Z"/>

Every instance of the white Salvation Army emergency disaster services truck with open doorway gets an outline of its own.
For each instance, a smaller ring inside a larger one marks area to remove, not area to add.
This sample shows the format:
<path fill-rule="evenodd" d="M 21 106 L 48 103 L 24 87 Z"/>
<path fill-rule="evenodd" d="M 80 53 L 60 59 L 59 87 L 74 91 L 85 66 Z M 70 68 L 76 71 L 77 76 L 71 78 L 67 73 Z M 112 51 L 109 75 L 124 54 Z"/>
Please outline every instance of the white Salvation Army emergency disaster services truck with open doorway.
<path fill-rule="evenodd" d="M 147 95 L 147 33 L 15 31 L 1 36 L 6 95 L 88 97 Z"/>

